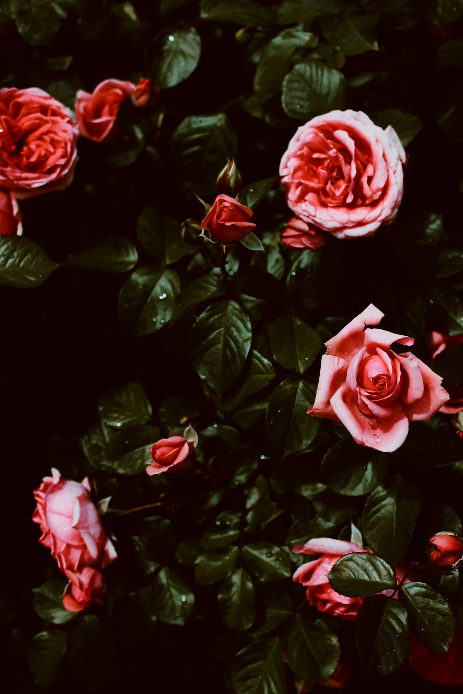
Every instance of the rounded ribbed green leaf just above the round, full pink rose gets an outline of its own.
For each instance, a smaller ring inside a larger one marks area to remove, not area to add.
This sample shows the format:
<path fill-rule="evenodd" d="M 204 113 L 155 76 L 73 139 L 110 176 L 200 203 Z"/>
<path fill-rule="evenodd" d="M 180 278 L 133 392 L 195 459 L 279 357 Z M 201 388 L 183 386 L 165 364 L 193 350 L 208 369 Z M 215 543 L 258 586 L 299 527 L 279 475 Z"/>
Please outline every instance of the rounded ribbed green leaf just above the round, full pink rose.
<path fill-rule="evenodd" d="M 283 108 L 287 115 L 308 121 L 314 116 L 343 108 L 344 75 L 323 62 L 310 60 L 294 65 L 283 81 Z"/>

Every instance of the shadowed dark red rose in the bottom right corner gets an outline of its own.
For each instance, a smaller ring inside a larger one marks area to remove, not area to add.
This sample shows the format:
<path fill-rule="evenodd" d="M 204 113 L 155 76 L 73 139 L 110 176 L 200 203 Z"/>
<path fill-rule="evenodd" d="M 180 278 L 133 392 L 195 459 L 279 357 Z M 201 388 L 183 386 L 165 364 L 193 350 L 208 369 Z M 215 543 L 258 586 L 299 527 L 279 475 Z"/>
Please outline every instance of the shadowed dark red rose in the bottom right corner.
<path fill-rule="evenodd" d="M 409 662 L 421 677 L 430 682 L 453 687 L 463 684 L 463 634 L 458 622 L 455 641 L 444 653 L 429 650 L 413 636 Z"/>

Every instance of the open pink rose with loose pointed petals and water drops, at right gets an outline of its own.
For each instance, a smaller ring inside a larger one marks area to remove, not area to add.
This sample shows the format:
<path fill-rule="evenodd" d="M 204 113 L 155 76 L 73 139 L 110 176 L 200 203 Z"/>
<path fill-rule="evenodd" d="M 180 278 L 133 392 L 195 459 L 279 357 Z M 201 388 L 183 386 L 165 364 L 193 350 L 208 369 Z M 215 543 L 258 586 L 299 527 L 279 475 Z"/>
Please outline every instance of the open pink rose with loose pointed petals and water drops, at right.
<path fill-rule="evenodd" d="M 429 421 L 448 400 L 441 377 L 411 352 L 394 353 L 406 335 L 379 328 L 384 314 L 370 304 L 335 337 L 321 357 L 317 396 L 308 414 L 340 421 L 357 443 L 392 452 L 402 446 L 409 421 Z"/>

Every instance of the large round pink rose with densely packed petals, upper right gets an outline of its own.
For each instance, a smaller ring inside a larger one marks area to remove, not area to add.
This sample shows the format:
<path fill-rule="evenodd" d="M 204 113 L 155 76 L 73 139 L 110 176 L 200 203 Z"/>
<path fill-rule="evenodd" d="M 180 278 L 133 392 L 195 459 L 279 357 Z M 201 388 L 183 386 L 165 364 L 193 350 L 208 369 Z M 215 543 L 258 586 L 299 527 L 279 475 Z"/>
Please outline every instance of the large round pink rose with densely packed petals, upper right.
<path fill-rule="evenodd" d="M 405 151 L 392 128 L 362 111 L 330 111 L 298 128 L 280 162 L 289 208 L 347 239 L 373 236 L 396 216 Z"/>

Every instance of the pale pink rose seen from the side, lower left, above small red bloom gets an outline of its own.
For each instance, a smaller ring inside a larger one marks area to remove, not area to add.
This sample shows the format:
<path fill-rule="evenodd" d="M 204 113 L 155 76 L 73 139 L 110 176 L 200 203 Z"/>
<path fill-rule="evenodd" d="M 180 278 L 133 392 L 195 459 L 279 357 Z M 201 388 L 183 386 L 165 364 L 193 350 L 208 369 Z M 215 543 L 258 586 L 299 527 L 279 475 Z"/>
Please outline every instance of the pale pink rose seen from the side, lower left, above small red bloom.
<path fill-rule="evenodd" d="M 56 468 L 51 474 L 34 491 L 37 506 L 32 520 L 42 530 L 40 542 L 51 550 L 63 573 L 85 566 L 106 568 L 117 554 L 92 502 L 88 478 L 79 484 L 63 480 Z"/>

